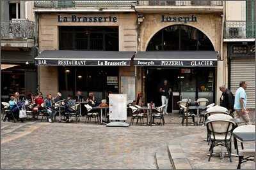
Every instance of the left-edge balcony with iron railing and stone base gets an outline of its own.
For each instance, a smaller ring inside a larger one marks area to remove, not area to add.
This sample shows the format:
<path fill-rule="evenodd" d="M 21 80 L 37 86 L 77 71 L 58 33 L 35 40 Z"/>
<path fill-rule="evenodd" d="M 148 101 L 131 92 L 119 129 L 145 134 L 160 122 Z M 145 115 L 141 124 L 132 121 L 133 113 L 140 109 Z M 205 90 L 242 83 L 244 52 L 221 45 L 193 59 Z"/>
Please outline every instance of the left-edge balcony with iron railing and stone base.
<path fill-rule="evenodd" d="M 17 19 L 1 22 L 1 46 L 23 47 L 34 46 L 35 22 Z"/>

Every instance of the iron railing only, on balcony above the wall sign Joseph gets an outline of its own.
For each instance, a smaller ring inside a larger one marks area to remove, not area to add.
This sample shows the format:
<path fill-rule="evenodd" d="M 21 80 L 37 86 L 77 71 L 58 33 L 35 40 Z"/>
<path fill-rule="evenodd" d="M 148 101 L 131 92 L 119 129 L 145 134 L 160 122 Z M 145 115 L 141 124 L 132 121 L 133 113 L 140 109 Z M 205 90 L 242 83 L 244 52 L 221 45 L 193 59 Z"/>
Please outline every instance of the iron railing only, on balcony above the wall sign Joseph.
<path fill-rule="evenodd" d="M 222 0 L 138 0 L 138 6 L 222 6 Z"/>

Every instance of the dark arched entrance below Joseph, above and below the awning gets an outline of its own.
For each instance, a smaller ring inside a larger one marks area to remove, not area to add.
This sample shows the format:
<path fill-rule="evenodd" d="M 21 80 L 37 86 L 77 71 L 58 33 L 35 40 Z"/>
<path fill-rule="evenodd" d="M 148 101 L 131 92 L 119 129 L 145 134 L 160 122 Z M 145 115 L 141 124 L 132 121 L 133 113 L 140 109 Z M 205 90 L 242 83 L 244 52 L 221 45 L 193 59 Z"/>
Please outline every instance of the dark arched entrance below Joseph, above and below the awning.
<path fill-rule="evenodd" d="M 189 25 L 171 25 L 158 31 L 148 42 L 147 51 L 214 51 L 211 40 L 200 30 Z M 147 102 L 161 105 L 159 88 L 164 80 L 172 87 L 168 112 L 177 110 L 177 101 L 189 98 L 207 98 L 214 102 L 215 67 L 145 67 Z"/>

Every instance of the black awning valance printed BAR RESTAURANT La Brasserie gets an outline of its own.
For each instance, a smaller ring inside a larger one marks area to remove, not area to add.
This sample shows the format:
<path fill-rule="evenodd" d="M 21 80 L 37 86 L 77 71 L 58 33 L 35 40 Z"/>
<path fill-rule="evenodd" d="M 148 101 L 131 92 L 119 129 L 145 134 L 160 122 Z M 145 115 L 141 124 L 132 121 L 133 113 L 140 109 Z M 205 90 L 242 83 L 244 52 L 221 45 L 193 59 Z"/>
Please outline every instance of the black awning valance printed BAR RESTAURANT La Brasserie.
<path fill-rule="evenodd" d="M 130 60 L 47 60 L 36 59 L 38 66 L 130 66 Z"/>

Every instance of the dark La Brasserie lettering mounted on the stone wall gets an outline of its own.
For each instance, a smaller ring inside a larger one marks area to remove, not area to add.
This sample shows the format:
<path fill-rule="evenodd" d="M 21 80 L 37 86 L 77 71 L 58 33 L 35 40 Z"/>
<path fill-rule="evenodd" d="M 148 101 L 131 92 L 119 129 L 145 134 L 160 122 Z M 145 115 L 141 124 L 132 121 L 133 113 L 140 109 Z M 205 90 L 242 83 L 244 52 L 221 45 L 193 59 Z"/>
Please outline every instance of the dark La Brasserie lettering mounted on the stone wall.
<path fill-rule="evenodd" d="M 58 22 L 117 22 L 116 17 L 77 17 L 77 15 L 71 15 L 71 17 L 62 17 L 58 15 Z"/>

